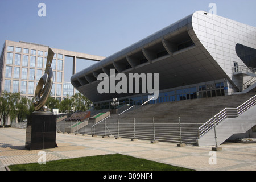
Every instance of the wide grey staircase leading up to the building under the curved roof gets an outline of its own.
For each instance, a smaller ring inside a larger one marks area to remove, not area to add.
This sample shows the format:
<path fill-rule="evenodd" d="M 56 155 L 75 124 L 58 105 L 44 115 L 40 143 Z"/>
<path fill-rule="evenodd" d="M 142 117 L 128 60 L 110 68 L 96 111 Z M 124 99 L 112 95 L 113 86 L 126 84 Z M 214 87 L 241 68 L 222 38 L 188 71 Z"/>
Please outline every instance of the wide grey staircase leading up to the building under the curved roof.
<path fill-rule="evenodd" d="M 119 121 L 119 137 L 153 140 L 153 118 L 155 122 L 155 139 L 164 142 L 180 142 L 179 118 L 181 121 L 182 141 L 187 144 L 197 144 L 198 129 L 210 118 L 225 107 L 237 107 L 253 97 L 254 93 L 236 96 L 220 96 L 200 98 L 161 104 L 136 106 L 121 115 L 112 114 L 105 122 L 93 128 L 93 123 L 82 127 L 77 133 L 96 135 L 118 135 L 117 120 Z M 214 139 L 214 138 L 213 138 Z"/>

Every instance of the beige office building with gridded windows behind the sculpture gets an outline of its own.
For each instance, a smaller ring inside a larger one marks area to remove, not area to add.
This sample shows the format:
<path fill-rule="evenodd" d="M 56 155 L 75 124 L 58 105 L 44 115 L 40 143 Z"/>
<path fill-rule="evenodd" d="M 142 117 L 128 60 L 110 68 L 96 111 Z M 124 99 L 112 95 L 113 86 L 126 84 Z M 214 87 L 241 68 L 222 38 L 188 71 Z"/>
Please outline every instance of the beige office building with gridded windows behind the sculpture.
<path fill-rule="evenodd" d="M 55 52 L 51 65 L 54 76 L 51 96 L 60 100 L 75 93 L 71 83 L 64 82 L 65 57 L 73 58 L 73 67 L 69 68 L 73 74 L 76 73 L 77 59 L 100 61 L 105 58 L 52 47 L 51 49 Z M 20 92 L 22 96 L 33 98 L 36 85 L 44 74 L 47 51 L 48 46 L 6 40 L 0 57 L 0 93 L 3 90 Z"/>

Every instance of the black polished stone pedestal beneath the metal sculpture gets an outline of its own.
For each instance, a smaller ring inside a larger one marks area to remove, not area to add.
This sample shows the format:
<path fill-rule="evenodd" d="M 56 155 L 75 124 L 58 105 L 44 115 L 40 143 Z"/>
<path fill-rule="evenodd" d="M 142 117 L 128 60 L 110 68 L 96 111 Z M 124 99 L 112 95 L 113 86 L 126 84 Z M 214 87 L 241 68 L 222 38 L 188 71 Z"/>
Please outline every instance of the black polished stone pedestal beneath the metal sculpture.
<path fill-rule="evenodd" d="M 28 150 L 56 147 L 56 115 L 36 111 L 27 120 L 26 144 Z"/>

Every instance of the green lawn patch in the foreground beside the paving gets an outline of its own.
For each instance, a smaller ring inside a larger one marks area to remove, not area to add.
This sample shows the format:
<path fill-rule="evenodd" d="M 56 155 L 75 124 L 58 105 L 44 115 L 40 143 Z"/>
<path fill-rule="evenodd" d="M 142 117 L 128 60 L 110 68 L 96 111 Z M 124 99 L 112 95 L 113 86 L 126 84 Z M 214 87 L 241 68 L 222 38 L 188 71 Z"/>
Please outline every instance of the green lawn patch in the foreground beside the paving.
<path fill-rule="evenodd" d="M 191 171 L 182 167 L 134 158 L 127 155 L 98 155 L 9 166 L 11 171 Z"/>

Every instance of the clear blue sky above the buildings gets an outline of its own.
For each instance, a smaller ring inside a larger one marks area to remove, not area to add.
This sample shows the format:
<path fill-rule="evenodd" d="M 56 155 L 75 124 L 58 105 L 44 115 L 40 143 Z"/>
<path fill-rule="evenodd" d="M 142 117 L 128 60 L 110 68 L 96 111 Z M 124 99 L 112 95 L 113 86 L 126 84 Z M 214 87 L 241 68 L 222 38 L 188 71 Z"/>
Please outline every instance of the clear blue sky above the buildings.
<path fill-rule="evenodd" d="M 39 17 L 39 3 L 46 17 Z M 198 10 L 256 27 L 255 0 L 0 0 L 0 45 L 26 41 L 110 56 Z"/>

